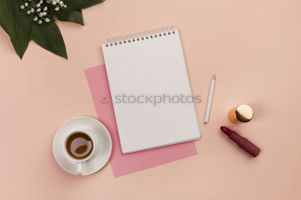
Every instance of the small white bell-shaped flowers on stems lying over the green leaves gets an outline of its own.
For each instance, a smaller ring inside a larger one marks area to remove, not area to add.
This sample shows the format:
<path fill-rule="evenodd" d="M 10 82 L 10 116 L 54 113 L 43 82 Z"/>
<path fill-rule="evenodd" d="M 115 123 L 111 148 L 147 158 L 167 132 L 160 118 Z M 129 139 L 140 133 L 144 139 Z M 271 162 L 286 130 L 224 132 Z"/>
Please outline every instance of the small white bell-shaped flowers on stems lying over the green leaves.
<path fill-rule="evenodd" d="M 36 3 L 36 10 L 27 2 L 35 2 Z M 27 14 L 36 14 L 35 18 L 33 18 L 34 21 L 37 21 L 39 24 L 45 23 L 45 22 L 51 22 L 51 17 L 48 15 L 48 8 L 45 6 L 45 3 L 43 0 L 24 0 L 24 5 L 21 5 L 21 9 L 28 10 Z M 60 0 L 46 0 L 47 3 L 49 3 L 52 6 L 55 6 L 55 11 L 58 11 L 60 8 L 66 9 L 67 5 L 64 4 L 63 1 Z"/>

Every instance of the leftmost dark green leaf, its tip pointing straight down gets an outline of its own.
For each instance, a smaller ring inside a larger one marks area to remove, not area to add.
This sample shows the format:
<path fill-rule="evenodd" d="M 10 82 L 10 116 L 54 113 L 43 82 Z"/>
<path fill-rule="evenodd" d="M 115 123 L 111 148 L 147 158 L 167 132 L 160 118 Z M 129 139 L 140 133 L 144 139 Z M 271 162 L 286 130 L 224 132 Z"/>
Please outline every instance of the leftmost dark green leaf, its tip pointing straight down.
<path fill-rule="evenodd" d="M 35 23 L 33 15 L 22 10 L 23 0 L 4 0 L 0 5 L 0 26 L 11 38 L 11 43 L 20 59 L 22 59 L 33 35 Z"/>

